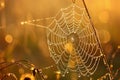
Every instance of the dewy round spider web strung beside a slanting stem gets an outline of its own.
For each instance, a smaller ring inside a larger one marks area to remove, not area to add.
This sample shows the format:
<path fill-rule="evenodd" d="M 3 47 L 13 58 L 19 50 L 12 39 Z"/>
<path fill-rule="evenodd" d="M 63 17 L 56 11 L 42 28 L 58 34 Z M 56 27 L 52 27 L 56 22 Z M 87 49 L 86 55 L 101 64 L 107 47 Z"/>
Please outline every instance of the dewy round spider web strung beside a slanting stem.
<path fill-rule="evenodd" d="M 38 24 L 40 20 L 22 24 L 47 30 L 50 56 L 63 76 L 68 72 L 76 72 L 79 77 L 93 75 L 102 52 L 85 8 L 72 4 L 50 19 L 52 22 L 48 26 Z"/>

